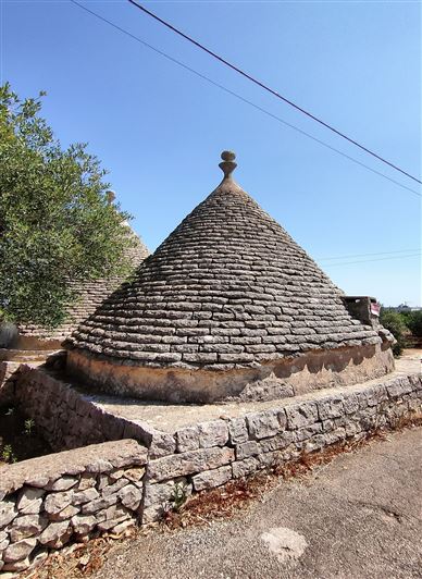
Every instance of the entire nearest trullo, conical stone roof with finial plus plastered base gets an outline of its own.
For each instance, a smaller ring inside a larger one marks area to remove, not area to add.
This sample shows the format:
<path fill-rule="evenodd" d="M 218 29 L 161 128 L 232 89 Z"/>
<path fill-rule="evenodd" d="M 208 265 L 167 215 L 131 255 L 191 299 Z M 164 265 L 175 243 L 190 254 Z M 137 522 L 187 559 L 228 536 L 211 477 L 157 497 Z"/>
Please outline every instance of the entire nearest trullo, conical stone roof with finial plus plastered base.
<path fill-rule="evenodd" d="M 69 368 L 144 398 L 275 398 L 393 368 L 388 336 L 224 178 L 67 341 Z"/>

